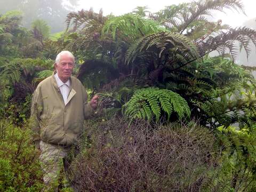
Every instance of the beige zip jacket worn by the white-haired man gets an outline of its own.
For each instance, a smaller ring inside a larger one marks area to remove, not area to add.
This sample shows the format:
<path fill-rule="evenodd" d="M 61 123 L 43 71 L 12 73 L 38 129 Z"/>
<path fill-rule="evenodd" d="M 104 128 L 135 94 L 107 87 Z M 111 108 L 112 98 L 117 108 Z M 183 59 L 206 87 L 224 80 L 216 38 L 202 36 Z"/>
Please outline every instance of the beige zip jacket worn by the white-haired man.
<path fill-rule="evenodd" d="M 40 140 L 62 146 L 73 145 L 91 111 L 84 86 L 77 78 L 70 78 L 66 106 L 54 75 L 44 79 L 38 84 L 31 103 L 36 145 Z"/>

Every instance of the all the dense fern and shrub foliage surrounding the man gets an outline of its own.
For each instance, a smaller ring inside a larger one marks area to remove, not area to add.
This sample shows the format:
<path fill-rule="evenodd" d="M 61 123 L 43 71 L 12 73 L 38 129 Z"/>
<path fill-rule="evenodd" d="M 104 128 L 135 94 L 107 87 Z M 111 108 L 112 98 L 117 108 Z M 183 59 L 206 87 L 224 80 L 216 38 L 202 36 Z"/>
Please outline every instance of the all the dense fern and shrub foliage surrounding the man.
<path fill-rule="evenodd" d="M 91 96 L 100 95 L 74 161 L 77 189 L 254 191 L 255 68 L 236 64 L 235 45 L 252 54 L 256 31 L 207 20 L 212 10 L 225 9 L 244 12 L 238 0 L 157 13 L 137 7 L 118 17 L 81 10 L 69 13 L 67 30 L 55 35 L 43 20 L 26 29 L 20 12 L 1 15 L 0 119 L 9 123 L 1 124 L 0 154 L 10 150 L 21 162 L 1 156 L 0 190 L 41 186 L 37 161 L 27 166 L 37 159 L 26 127 L 31 94 L 52 74 L 55 55 L 69 50 L 74 75 Z M 220 55 L 210 57 L 213 51 Z M 17 154 L 11 138 L 21 135 L 25 149 Z"/>

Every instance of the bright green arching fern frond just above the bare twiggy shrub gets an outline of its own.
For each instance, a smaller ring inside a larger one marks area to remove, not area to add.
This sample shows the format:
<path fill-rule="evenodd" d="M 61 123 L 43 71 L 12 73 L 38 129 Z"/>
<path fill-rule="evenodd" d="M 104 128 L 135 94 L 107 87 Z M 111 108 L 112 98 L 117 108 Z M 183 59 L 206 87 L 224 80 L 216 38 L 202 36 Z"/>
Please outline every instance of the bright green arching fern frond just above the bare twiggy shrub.
<path fill-rule="evenodd" d="M 190 116 L 190 109 L 185 99 L 170 90 L 149 87 L 135 91 L 126 103 L 125 116 L 128 119 L 143 118 L 159 121 L 167 114 L 167 121 L 173 113 L 181 119 Z"/>

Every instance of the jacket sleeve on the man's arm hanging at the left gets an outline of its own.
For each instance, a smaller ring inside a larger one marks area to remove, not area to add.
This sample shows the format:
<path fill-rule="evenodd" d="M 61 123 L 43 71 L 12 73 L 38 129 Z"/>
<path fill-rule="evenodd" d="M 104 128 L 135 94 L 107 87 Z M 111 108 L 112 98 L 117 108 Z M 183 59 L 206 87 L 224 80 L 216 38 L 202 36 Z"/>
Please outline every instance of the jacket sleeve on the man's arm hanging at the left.
<path fill-rule="evenodd" d="M 39 148 L 39 142 L 40 142 L 39 117 L 42 111 L 43 111 L 42 94 L 39 87 L 37 87 L 31 101 L 31 115 L 30 115 L 31 130 L 33 131 L 33 141 L 35 142 L 35 145 L 37 148 Z"/>

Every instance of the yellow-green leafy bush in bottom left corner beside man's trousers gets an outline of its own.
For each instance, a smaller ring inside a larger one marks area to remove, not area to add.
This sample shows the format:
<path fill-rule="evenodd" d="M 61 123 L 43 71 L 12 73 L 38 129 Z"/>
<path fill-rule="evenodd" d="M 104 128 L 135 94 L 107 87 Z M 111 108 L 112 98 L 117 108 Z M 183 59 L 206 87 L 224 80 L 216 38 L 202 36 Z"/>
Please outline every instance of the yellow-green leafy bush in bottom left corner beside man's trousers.
<path fill-rule="evenodd" d="M 28 127 L 0 122 L 0 191 L 40 191 L 43 187 L 38 152 Z"/>

